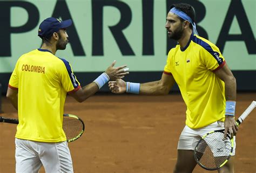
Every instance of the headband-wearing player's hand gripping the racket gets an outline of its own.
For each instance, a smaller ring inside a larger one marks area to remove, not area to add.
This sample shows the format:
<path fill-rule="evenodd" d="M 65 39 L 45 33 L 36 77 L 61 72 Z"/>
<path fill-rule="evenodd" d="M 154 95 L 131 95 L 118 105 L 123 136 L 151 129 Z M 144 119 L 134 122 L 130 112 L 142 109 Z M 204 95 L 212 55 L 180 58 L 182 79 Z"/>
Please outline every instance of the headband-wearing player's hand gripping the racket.
<path fill-rule="evenodd" d="M 230 138 L 233 139 L 233 136 L 237 134 L 238 127 L 237 123 L 233 116 L 226 116 L 224 122 L 225 132 L 224 132 L 224 139 L 227 138 L 227 133 L 230 133 Z"/>

